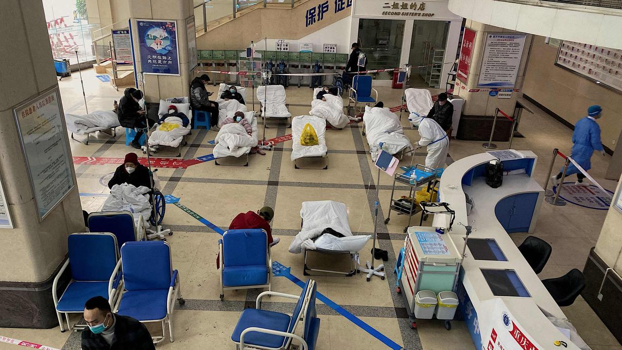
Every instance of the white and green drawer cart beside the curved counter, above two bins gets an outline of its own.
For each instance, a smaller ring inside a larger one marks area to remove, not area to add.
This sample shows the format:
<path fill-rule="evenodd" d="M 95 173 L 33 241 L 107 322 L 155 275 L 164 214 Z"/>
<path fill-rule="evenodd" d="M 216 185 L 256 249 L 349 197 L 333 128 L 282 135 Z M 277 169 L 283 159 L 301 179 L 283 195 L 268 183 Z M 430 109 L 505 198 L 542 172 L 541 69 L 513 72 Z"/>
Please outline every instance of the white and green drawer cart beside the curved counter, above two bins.
<path fill-rule="evenodd" d="M 434 227 L 413 226 L 408 228 L 404 243 L 404 260 L 399 278 L 399 290 L 404 297 L 411 328 L 417 328 L 415 318 L 415 295 L 422 290 L 438 295 L 442 291 L 454 291 L 462 254 L 448 234 L 439 234 Z M 445 320 L 450 329 L 450 320 Z"/>

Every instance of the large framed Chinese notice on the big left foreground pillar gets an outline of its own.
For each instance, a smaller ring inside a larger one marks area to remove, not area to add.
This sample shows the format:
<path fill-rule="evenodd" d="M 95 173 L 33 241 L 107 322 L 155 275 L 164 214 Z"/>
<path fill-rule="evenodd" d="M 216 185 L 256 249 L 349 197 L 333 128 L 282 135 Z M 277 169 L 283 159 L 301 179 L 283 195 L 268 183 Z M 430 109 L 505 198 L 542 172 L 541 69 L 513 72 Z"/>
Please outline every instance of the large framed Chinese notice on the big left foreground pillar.
<path fill-rule="evenodd" d="M 39 220 L 75 186 L 58 87 L 13 110 Z"/>

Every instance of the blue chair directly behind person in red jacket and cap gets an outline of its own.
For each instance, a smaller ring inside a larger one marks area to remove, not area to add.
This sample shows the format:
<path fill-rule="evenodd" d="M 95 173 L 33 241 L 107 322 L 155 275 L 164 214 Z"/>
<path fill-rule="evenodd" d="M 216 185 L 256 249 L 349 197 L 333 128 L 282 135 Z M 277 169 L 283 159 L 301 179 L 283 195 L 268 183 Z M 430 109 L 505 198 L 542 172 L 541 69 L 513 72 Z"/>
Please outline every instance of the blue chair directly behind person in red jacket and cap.
<path fill-rule="evenodd" d="M 272 258 L 266 231 L 226 230 L 218 240 L 220 250 L 220 300 L 225 290 L 268 288 Z"/>

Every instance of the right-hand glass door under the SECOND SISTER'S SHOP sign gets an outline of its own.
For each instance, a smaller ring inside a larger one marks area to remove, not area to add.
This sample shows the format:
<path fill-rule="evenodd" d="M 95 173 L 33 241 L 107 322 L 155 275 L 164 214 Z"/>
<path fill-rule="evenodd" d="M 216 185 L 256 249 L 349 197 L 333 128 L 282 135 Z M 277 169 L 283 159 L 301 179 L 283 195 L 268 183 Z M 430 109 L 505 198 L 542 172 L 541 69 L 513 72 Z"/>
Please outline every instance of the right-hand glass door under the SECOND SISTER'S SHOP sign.
<path fill-rule="evenodd" d="M 443 21 L 414 21 L 408 63 L 417 68 L 411 70 L 409 87 L 440 87 L 449 25 Z"/>

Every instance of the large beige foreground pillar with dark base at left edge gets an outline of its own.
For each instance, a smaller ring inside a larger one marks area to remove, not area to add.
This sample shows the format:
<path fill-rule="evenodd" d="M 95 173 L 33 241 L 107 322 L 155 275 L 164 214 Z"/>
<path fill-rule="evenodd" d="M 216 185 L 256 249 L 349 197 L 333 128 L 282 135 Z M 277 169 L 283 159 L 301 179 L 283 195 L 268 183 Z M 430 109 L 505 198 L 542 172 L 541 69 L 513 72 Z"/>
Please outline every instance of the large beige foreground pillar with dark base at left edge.
<path fill-rule="evenodd" d="M 11 38 L 11 52 L 0 66 L 5 82 L 0 85 L 0 176 L 14 225 L 0 229 L 0 327 L 51 328 L 57 324 L 52 280 L 67 255 L 67 236 L 85 227 L 77 186 L 42 222 L 37 219 L 13 116 L 18 105 L 58 86 L 42 2 L 2 1 L 0 31 Z"/>

